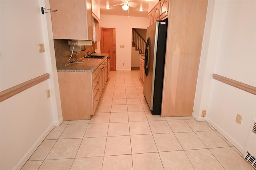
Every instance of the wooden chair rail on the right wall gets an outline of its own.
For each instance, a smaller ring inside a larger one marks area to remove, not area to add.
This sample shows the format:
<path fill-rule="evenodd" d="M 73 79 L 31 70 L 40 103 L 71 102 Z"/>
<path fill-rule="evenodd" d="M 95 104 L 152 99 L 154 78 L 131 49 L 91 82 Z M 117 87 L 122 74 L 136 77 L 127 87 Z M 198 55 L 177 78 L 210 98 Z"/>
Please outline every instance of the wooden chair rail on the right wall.
<path fill-rule="evenodd" d="M 241 90 L 244 90 L 246 92 L 249 92 L 251 94 L 254 94 L 256 95 L 256 87 L 254 86 L 251 86 L 251 85 L 248 85 L 248 84 L 244 84 L 242 82 L 238 82 L 236 80 L 232 80 L 230 78 L 226 78 L 224 76 L 220 76 L 218 74 L 213 74 L 212 77 L 215 79 L 215 80 L 218 80 L 220 82 L 223 82 L 223 83 L 226 83 L 230 86 L 233 86 L 233 87 L 236 87 L 236 88 L 239 88 Z"/>

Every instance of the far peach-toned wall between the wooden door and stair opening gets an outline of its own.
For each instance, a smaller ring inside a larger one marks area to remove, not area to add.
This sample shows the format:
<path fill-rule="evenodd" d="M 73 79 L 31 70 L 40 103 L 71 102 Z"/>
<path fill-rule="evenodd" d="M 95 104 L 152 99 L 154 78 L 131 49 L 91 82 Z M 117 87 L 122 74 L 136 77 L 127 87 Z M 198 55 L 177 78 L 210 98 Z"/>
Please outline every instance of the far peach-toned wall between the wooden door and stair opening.
<path fill-rule="evenodd" d="M 147 25 L 148 18 L 100 15 L 101 27 L 116 29 L 116 70 L 131 70 L 132 28 L 147 28 Z"/>

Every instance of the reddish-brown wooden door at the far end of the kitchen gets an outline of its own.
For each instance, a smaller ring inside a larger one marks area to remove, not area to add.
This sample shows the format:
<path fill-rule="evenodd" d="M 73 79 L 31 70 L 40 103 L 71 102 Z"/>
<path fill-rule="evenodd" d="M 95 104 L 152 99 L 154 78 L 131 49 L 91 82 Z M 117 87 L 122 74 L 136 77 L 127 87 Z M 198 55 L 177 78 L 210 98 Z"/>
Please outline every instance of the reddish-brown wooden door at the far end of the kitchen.
<path fill-rule="evenodd" d="M 100 52 L 109 54 L 110 70 L 116 70 L 116 29 L 101 28 Z"/>

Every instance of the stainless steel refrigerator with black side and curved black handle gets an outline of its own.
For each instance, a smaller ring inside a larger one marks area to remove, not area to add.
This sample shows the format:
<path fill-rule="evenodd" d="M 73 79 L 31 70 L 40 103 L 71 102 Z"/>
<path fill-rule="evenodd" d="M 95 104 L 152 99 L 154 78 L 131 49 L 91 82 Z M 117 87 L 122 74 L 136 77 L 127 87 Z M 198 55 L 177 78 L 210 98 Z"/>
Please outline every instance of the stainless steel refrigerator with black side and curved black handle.
<path fill-rule="evenodd" d="M 156 21 L 147 28 L 143 94 L 153 115 L 161 114 L 167 20 Z"/>

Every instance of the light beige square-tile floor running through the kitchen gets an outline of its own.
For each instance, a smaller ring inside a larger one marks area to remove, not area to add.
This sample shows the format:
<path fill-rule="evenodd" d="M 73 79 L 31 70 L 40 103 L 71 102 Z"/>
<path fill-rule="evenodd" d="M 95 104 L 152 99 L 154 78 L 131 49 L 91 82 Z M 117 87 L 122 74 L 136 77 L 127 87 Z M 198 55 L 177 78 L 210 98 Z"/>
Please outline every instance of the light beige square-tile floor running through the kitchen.
<path fill-rule="evenodd" d="M 54 127 L 22 170 L 253 170 L 206 121 L 152 115 L 138 71 L 110 71 L 91 120 Z"/>

